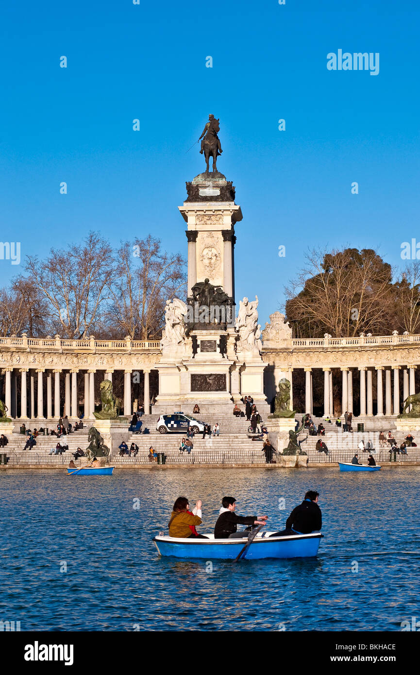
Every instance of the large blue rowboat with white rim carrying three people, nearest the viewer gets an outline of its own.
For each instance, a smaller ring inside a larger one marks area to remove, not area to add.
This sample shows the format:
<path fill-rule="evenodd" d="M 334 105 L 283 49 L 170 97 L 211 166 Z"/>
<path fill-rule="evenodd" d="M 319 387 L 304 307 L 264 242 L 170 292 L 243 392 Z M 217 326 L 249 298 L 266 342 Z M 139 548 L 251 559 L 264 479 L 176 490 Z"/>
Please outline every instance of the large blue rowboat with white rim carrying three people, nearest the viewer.
<path fill-rule="evenodd" d="M 292 535 L 288 537 L 269 537 L 269 532 L 257 535 L 253 543 L 246 549 L 241 560 L 261 560 L 263 558 L 315 558 L 321 541 L 320 532 L 309 535 Z M 204 558 L 204 560 L 235 560 L 248 541 L 244 539 L 215 539 L 214 535 L 206 535 L 209 539 L 177 539 L 169 535 L 153 538 L 161 556 L 174 558 Z"/>

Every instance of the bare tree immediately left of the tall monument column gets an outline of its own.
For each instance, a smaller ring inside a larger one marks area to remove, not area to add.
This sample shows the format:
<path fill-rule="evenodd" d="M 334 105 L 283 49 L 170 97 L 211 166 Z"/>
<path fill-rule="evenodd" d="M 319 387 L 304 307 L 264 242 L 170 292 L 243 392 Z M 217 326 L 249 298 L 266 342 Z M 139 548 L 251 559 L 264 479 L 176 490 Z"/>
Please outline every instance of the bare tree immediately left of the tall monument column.
<path fill-rule="evenodd" d="M 110 285 L 111 331 L 132 339 L 159 337 L 166 300 L 186 295 L 185 264 L 180 254 L 162 251 L 161 241 L 151 235 L 122 244 Z"/>

